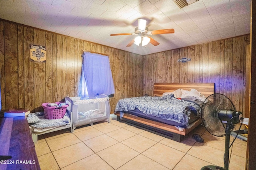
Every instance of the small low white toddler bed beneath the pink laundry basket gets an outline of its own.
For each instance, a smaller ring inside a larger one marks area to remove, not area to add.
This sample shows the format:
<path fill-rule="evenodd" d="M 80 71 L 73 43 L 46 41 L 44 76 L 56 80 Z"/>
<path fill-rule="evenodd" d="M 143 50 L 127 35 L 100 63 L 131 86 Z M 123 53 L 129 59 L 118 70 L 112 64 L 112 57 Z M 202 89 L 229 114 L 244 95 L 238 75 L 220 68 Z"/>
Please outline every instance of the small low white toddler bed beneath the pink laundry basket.
<path fill-rule="evenodd" d="M 27 120 L 34 143 L 38 141 L 38 135 L 59 131 L 62 129 L 71 129 L 72 121 L 70 120 L 70 111 L 61 119 L 45 119 L 44 112 L 36 112 L 28 114 Z"/>

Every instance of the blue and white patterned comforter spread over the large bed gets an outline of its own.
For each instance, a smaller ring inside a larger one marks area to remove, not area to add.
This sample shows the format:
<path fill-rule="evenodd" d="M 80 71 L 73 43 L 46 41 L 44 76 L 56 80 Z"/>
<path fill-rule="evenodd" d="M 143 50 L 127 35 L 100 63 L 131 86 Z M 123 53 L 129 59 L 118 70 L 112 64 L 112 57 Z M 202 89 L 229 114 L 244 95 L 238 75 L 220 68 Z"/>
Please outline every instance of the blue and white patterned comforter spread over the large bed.
<path fill-rule="evenodd" d="M 190 114 L 200 116 L 201 108 L 192 101 L 179 100 L 173 94 L 162 97 L 135 97 L 120 99 L 116 105 L 116 111 L 140 110 L 146 115 L 176 121 L 182 125 L 188 125 Z"/>

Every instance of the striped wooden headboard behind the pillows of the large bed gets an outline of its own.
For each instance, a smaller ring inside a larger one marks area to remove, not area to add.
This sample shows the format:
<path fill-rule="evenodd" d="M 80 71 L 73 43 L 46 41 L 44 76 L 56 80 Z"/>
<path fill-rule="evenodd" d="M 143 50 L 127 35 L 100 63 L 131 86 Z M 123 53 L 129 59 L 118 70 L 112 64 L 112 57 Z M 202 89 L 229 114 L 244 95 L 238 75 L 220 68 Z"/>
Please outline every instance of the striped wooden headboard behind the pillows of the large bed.
<path fill-rule="evenodd" d="M 214 83 L 154 83 L 154 96 L 162 96 L 164 92 L 173 92 L 179 88 L 189 91 L 194 88 L 206 98 L 214 94 Z"/>

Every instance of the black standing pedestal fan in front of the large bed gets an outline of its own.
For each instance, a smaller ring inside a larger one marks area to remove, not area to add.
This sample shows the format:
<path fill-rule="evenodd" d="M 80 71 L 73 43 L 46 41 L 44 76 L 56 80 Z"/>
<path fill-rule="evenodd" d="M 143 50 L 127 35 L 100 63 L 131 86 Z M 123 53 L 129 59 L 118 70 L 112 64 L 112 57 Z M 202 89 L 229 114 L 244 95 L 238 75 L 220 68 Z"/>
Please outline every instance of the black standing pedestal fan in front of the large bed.
<path fill-rule="evenodd" d="M 230 131 L 234 124 L 243 122 L 243 115 L 236 111 L 234 104 L 223 94 L 212 94 L 204 101 L 201 113 L 202 124 L 214 136 L 225 139 L 224 168 L 204 166 L 201 170 L 228 170 Z M 232 143 L 233 144 L 233 143 Z"/>

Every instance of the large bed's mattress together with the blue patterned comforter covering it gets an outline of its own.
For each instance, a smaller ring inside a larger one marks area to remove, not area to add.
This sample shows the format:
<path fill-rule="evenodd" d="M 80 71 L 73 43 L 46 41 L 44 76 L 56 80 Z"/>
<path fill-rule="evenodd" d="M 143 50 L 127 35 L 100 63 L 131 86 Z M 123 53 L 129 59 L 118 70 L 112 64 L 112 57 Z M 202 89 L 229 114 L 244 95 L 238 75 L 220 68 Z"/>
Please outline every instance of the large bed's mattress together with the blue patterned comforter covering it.
<path fill-rule="evenodd" d="M 179 100 L 173 94 L 163 97 L 136 97 L 118 101 L 115 111 L 187 128 L 200 118 L 201 101 Z"/>

